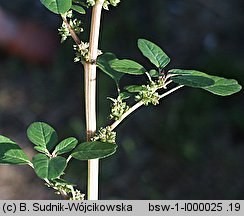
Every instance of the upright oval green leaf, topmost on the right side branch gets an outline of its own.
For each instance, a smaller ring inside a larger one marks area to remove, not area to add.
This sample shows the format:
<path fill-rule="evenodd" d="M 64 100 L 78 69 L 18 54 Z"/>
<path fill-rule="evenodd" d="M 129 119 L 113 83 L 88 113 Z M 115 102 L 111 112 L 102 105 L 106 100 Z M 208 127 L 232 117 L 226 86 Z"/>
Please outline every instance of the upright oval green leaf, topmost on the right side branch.
<path fill-rule="evenodd" d="M 164 68 L 170 62 L 170 58 L 164 53 L 164 51 L 159 46 L 148 40 L 139 39 L 138 47 L 142 54 L 160 69 Z"/>

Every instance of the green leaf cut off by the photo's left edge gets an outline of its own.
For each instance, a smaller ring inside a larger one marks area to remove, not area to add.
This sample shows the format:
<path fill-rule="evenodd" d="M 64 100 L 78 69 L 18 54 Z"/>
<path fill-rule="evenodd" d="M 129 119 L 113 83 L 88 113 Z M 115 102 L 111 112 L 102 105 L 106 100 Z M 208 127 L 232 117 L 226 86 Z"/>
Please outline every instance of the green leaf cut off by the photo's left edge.
<path fill-rule="evenodd" d="M 25 152 L 12 140 L 0 135 L 0 164 L 29 164 Z"/>

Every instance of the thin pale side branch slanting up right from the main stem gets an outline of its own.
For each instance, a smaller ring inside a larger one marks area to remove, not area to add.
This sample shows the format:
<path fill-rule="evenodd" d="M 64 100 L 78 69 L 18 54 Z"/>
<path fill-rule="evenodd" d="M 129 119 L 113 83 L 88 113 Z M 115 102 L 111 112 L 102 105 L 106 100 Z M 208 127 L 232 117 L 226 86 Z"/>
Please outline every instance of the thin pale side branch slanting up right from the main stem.
<path fill-rule="evenodd" d="M 160 99 L 166 97 L 167 95 L 173 93 L 174 91 L 182 88 L 184 85 L 179 85 L 176 86 L 175 88 L 172 88 L 171 90 L 165 92 L 164 94 L 160 95 Z M 119 120 L 115 121 L 111 126 L 110 129 L 111 131 L 114 130 L 128 115 L 130 115 L 131 113 L 133 113 L 135 110 L 137 110 L 138 108 L 140 108 L 143 105 L 143 101 L 140 100 L 139 102 L 137 102 L 134 106 L 132 106 L 130 109 L 128 109 Z"/>

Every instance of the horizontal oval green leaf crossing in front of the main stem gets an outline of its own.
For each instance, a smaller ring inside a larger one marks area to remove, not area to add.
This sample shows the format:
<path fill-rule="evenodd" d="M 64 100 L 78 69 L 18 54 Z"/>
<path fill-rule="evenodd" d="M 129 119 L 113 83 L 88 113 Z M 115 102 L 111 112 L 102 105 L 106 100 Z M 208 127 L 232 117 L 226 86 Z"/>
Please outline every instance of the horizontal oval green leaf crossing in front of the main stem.
<path fill-rule="evenodd" d="M 105 158 L 115 153 L 116 144 L 104 142 L 84 142 L 78 145 L 72 152 L 72 157 L 78 160 L 91 160 Z"/>

